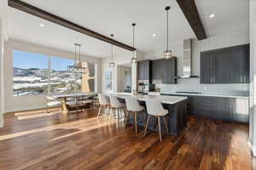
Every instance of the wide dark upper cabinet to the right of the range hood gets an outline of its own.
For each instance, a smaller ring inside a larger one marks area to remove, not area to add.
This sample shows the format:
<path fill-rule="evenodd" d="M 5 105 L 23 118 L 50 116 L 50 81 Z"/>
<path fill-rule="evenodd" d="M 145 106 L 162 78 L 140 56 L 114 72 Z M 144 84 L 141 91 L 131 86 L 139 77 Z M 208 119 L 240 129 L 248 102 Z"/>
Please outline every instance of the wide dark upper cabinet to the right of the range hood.
<path fill-rule="evenodd" d="M 201 83 L 248 83 L 249 45 L 201 52 Z"/>

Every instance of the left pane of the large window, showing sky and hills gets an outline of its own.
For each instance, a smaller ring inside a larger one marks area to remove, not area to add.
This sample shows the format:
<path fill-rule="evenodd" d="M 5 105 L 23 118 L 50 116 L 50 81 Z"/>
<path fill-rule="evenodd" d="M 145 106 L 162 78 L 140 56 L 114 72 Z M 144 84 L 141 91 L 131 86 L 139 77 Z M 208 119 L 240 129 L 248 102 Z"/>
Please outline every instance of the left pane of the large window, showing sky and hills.
<path fill-rule="evenodd" d="M 14 56 L 14 95 L 48 93 L 48 56 L 19 50 Z"/>

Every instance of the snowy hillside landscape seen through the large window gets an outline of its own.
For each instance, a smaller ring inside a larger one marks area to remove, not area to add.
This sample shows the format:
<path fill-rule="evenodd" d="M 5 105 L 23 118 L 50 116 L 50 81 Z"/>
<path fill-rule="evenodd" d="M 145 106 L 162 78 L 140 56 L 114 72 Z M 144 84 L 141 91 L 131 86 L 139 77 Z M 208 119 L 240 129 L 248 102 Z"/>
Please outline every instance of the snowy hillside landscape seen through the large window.
<path fill-rule="evenodd" d="M 14 95 L 27 94 L 68 94 L 74 91 L 75 86 L 79 89 L 81 76 L 77 77 L 75 83 L 75 74 L 67 71 L 51 71 L 50 81 L 48 78 L 48 69 L 20 69 L 14 68 Z M 49 86 L 48 86 L 49 84 Z"/>

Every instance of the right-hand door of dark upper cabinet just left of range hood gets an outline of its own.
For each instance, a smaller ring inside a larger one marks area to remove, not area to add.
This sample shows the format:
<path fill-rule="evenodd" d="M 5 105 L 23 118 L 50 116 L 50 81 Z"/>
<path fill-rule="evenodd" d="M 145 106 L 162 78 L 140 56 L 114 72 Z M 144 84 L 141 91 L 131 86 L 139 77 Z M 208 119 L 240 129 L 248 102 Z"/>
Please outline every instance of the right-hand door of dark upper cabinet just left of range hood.
<path fill-rule="evenodd" d="M 166 59 L 162 65 L 162 83 L 177 83 L 177 58 Z"/>

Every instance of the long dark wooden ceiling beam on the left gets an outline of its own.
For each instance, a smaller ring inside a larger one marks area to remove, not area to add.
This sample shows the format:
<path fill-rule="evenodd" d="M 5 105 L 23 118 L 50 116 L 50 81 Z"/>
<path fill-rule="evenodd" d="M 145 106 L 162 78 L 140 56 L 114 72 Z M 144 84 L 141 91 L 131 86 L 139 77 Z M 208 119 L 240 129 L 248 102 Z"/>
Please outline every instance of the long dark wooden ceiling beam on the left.
<path fill-rule="evenodd" d="M 65 20 L 59 16 L 56 16 L 55 14 L 50 14 L 40 8 L 37 8 L 37 7 L 34 7 L 28 3 L 24 3 L 20 0 L 9 0 L 8 1 L 8 4 L 10 7 L 12 8 L 17 8 L 23 12 L 26 12 L 28 14 L 32 14 L 32 15 L 35 15 L 35 16 L 38 16 L 39 18 L 41 19 L 44 19 L 44 20 L 48 20 L 50 22 L 53 22 L 57 25 L 60 25 L 60 26 L 64 26 L 64 27 L 67 27 L 73 31 L 78 31 L 86 36 L 90 36 L 90 37 L 94 37 L 98 40 L 101 40 L 103 42 L 108 42 L 108 43 L 111 43 L 115 46 L 118 46 L 119 48 L 125 48 L 127 50 L 130 50 L 130 51 L 135 51 L 136 48 L 132 48 L 131 46 L 129 45 L 126 45 L 125 43 L 123 42 L 118 42 L 116 40 L 113 40 L 107 36 L 104 36 L 96 31 L 91 31 L 87 28 L 84 28 L 83 26 L 79 26 L 69 20 Z"/>

